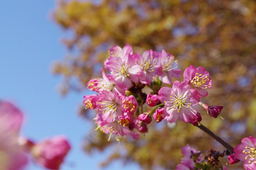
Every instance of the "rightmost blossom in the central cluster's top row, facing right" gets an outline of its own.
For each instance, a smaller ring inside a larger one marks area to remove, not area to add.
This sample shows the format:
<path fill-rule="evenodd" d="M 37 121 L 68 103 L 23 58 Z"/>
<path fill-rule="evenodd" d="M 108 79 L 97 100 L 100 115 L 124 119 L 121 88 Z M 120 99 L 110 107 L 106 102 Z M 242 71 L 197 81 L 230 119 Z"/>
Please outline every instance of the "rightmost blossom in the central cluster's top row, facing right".
<path fill-rule="evenodd" d="M 159 52 L 159 62 L 162 66 L 163 74 L 159 79 L 167 84 L 172 84 L 172 77 L 180 78 L 181 70 L 178 69 L 178 62 L 174 60 L 174 56 L 167 53 L 165 50 Z"/>

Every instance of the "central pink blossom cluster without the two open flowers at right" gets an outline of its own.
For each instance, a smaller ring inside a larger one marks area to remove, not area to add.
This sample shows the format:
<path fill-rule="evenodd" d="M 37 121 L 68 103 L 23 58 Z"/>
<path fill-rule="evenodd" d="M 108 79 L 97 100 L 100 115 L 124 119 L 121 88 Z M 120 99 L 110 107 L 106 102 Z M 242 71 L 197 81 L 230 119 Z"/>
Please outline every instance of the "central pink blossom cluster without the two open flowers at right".
<path fill-rule="evenodd" d="M 87 83 L 88 89 L 98 94 L 84 96 L 85 107 L 97 111 L 94 120 L 98 129 L 109 134 L 109 140 L 112 136 L 116 136 L 117 140 L 128 136 L 138 139 L 138 132 L 148 132 L 146 124 L 152 118 L 149 112 L 134 116 L 142 93 L 136 96 L 131 89 L 141 90 L 141 87 L 150 85 L 156 78 L 171 84 L 172 77 L 180 77 L 177 61 L 164 50 L 148 50 L 139 54 L 133 53 L 132 47 L 126 44 L 124 48 L 113 46 L 109 50 L 109 58 L 104 62 L 104 67 L 110 74 L 101 69 L 102 78 Z M 127 93 L 129 90 L 130 93 Z M 150 106 L 158 102 L 156 95 L 151 100 L 147 98 Z M 162 113 L 159 112 L 154 118 L 160 122 Z"/>

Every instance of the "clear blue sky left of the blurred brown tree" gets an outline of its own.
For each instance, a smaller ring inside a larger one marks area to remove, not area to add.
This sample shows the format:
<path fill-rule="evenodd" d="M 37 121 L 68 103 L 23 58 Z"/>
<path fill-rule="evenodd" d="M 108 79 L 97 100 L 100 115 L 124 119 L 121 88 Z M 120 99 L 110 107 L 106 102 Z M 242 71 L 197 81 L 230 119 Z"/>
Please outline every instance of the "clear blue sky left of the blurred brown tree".
<path fill-rule="evenodd" d="M 86 155 L 82 140 L 90 124 L 77 114 L 82 93 L 62 97 L 57 85 L 61 77 L 51 73 L 51 65 L 68 51 L 60 40 L 66 33 L 50 18 L 53 0 L 0 0 L 0 99 L 11 100 L 26 116 L 21 134 L 33 140 L 64 134 L 72 150 L 61 170 L 98 170 L 104 154 Z M 86 91 L 84 91 L 84 94 Z M 140 169 L 116 162 L 106 170 Z M 26 170 L 44 170 L 30 163 Z"/>

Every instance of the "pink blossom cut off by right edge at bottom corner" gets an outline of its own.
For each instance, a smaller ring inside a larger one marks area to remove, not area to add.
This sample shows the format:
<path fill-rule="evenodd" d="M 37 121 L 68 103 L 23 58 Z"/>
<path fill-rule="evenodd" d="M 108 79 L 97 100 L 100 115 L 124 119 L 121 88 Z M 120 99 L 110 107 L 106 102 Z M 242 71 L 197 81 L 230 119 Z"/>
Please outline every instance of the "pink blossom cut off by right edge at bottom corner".
<path fill-rule="evenodd" d="M 234 158 L 244 161 L 245 170 L 256 169 L 256 138 L 250 136 L 243 138 L 242 144 L 238 144 L 234 148 Z"/>

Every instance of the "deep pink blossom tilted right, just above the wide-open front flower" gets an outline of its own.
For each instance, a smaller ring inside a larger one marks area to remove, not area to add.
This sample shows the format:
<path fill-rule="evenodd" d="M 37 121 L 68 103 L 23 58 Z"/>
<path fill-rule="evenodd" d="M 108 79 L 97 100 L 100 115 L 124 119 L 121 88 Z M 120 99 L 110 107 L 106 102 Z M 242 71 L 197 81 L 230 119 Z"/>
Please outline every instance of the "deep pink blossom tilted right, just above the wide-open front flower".
<path fill-rule="evenodd" d="M 209 76 L 210 74 L 205 68 L 195 68 L 191 65 L 184 71 L 184 82 L 187 82 L 192 88 L 198 90 L 200 97 L 205 97 L 208 95 L 206 89 L 212 86 L 212 80 Z"/>

